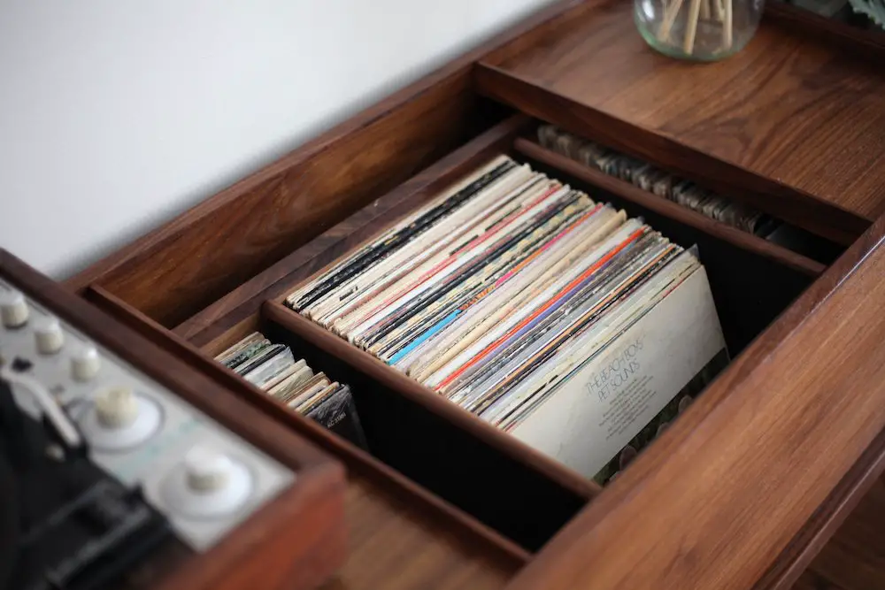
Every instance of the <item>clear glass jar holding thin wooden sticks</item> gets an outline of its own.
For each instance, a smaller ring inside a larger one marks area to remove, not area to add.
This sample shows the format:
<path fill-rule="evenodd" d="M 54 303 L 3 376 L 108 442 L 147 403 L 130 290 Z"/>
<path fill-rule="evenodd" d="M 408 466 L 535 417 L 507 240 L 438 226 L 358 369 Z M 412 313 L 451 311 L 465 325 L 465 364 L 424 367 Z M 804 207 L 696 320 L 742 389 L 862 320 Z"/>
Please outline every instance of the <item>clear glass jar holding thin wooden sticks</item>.
<path fill-rule="evenodd" d="M 634 0 L 645 41 L 671 57 L 715 61 L 750 42 L 765 0 Z"/>

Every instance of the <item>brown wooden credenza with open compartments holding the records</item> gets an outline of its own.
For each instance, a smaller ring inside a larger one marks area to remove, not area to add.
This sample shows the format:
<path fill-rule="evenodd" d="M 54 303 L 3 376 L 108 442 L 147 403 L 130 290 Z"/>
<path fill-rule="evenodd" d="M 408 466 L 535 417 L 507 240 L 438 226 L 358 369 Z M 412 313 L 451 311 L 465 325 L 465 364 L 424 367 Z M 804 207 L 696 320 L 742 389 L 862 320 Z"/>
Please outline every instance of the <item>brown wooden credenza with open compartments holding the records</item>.
<path fill-rule="evenodd" d="M 775 4 L 746 50 L 691 65 L 649 50 L 631 10 L 554 4 L 69 281 L 181 355 L 260 328 L 354 384 L 373 456 L 241 387 L 348 468 L 328 588 L 885 587 L 885 42 Z M 606 177 L 539 145 L 539 121 L 836 256 Z M 281 305 L 501 152 L 697 243 L 710 276 L 734 360 L 604 489 Z"/>

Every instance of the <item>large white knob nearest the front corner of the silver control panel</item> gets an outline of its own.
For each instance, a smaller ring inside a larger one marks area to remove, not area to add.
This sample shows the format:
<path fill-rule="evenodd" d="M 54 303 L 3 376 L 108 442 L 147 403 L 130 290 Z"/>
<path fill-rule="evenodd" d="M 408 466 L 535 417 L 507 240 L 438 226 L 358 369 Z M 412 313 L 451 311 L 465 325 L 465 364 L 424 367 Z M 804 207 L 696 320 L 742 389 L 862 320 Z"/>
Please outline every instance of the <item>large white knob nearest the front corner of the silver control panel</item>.
<path fill-rule="evenodd" d="M 184 517 L 212 519 L 241 509 L 252 494 L 244 464 L 211 447 L 191 448 L 161 487 L 164 501 Z"/>

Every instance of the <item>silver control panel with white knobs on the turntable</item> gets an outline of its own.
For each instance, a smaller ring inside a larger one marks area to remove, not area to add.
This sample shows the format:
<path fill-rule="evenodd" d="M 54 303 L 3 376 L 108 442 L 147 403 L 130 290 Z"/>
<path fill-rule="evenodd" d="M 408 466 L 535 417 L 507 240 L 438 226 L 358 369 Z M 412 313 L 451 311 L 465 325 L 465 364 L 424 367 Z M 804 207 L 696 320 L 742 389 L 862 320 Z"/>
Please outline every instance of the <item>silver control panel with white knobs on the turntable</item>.
<path fill-rule="evenodd" d="M 0 364 L 38 381 L 77 425 L 89 459 L 139 489 L 190 548 L 212 548 L 292 485 L 296 473 L 181 399 L 161 376 L 19 291 L 0 279 Z M 19 386 L 12 394 L 41 418 L 33 395 Z"/>

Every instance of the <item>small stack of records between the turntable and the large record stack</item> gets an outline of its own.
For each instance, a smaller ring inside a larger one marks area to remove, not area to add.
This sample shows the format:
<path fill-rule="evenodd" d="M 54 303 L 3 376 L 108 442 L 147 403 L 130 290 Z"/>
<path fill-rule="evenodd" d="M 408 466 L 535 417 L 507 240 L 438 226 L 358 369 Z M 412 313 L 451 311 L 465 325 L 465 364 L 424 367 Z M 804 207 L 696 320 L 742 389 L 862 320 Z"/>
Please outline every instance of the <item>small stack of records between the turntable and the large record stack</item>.
<path fill-rule="evenodd" d="M 274 344 L 254 332 L 215 360 L 291 410 L 366 448 L 350 387 L 314 372 L 303 358 L 296 360 L 285 344 Z"/>

